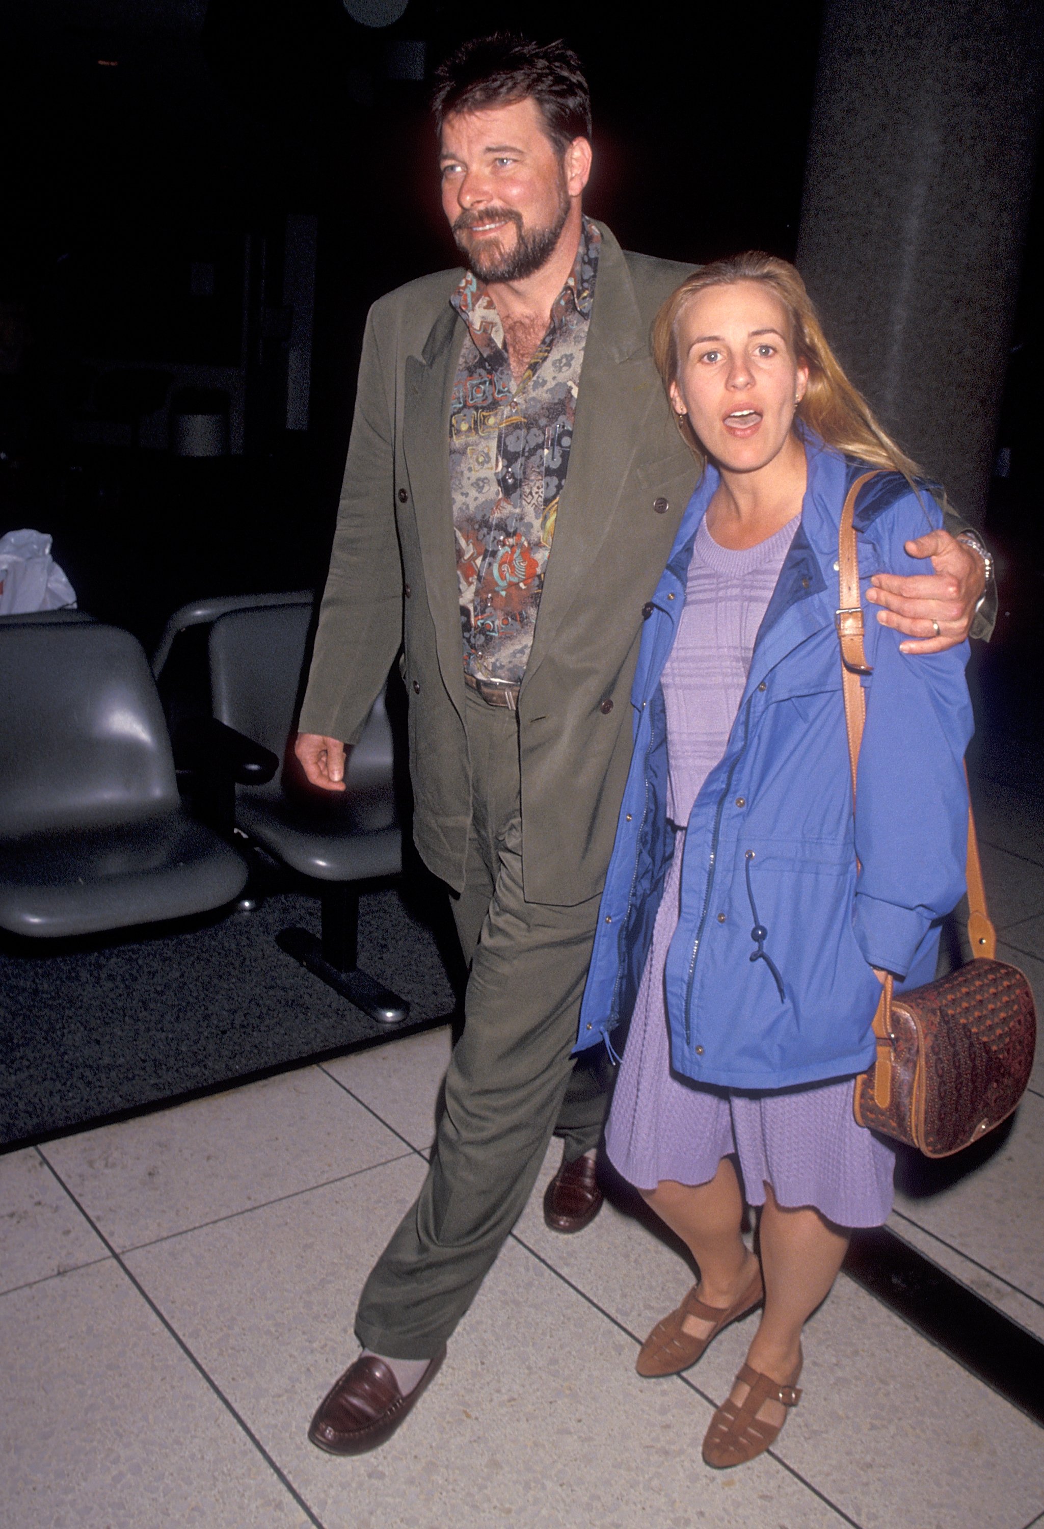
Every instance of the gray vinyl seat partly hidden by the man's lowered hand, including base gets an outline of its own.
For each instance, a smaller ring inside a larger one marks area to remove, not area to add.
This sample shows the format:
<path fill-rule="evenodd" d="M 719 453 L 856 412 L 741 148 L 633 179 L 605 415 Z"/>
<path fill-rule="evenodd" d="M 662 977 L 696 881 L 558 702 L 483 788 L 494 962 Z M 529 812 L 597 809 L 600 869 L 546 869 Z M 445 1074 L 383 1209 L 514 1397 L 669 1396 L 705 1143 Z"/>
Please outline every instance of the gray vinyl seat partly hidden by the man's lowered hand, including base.
<path fill-rule="evenodd" d="M 235 824 L 316 884 L 323 939 L 283 930 L 281 948 L 373 1018 L 399 1023 L 410 1005 L 356 965 L 359 884 L 402 870 L 391 726 L 379 696 L 352 749 L 347 789 L 307 784 L 292 742 L 310 625 L 310 596 L 287 595 L 286 605 L 229 610 L 211 627 L 212 716 L 281 761 L 267 781 L 235 786 Z"/>

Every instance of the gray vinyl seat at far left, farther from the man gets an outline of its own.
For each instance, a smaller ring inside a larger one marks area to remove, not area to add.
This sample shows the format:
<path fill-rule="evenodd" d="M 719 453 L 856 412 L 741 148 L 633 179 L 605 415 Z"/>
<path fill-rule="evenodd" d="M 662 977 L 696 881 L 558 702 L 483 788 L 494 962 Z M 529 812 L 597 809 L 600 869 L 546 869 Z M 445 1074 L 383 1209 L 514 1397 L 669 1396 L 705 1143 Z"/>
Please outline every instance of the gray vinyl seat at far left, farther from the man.
<path fill-rule="evenodd" d="M 220 908 L 243 859 L 182 807 L 148 661 L 90 621 L 0 628 L 0 928 L 61 937 Z"/>

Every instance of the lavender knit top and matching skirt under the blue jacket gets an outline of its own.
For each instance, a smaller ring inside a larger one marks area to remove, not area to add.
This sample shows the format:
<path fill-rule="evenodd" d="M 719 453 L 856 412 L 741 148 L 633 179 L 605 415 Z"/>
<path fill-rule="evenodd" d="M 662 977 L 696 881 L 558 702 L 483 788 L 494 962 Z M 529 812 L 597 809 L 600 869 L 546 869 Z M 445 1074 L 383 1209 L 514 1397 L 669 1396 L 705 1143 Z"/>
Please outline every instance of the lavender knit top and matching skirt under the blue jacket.
<path fill-rule="evenodd" d="M 738 1154 L 746 1197 L 813 1205 L 841 1226 L 876 1226 L 891 1209 L 894 1154 L 851 1113 L 853 1079 L 778 1093 L 711 1089 L 671 1073 L 663 965 L 679 914 L 685 824 L 708 772 L 725 754 L 754 641 L 798 529 L 744 552 L 720 547 L 700 523 L 685 610 L 663 668 L 674 859 L 605 1127 L 605 1145 L 631 1183 L 706 1183 Z"/>

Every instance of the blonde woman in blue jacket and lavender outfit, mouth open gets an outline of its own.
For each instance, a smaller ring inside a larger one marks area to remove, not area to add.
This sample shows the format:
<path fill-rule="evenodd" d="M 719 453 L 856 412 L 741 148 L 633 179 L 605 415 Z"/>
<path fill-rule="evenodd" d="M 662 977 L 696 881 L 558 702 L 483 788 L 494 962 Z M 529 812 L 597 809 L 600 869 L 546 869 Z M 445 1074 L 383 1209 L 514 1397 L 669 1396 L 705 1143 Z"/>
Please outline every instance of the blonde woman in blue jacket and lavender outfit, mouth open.
<path fill-rule="evenodd" d="M 842 503 L 884 469 L 856 511 L 864 599 L 874 573 L 914 572 L 905 543 L 940 511 L 786 261 L 702 268 L 660 310 L 654 346 L 703 472 L 647 607 L 579 1047 L 631 1018 L 607 1150 L 700 1272 L 639 1373 L 688 1368 L 763 1306 L 703 1445 L 731 1466 L 796 1405 L 801 1332 L 850 1229 L 891 1208 L 893 1153 L 856 1124 L 853 1078 L 873 1061 L 884 974 L 897 989 L 934 976 L 937 920 L 965 890 L 968 645 L 906 657 L 865 621 L 853 818 Z M 761 1206 L 757 1254 L 744 1197 Z"/>

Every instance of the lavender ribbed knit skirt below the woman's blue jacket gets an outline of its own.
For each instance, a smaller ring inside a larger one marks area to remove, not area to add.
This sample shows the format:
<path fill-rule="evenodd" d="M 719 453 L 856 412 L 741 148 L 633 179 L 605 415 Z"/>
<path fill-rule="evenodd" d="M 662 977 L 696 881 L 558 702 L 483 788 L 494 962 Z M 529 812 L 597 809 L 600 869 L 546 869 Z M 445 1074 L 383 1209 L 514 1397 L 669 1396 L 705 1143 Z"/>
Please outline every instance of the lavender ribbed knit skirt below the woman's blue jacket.
<path fill-rule="evenodd" d="M 893 1200 L 896 1156 L 851 1113 L 853 1078 L 778 1093 L 738 1093 L 671 1073 L 663 966 L 677 925 L 683 835 L 663 888 L 634 1005 L 605 1145 L 630 1183 L 706 1183 L 735 1153 L 751 1205 L 770 1183 L 784 1206 L 812 1205 L 839 1226 L 879 1226 Z"/>

